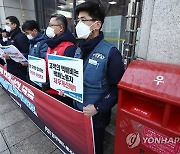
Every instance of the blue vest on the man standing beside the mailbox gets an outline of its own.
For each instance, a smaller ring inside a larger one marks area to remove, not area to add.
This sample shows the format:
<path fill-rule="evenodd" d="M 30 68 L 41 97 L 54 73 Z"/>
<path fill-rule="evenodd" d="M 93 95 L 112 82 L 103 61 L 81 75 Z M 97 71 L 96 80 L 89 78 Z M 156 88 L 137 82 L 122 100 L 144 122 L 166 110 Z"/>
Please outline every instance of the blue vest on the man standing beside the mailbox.
<path fill-rule="evenodd" d="M 83 103 L 74 101 L 75 107 L 79 110 L 83 110 L 83 106 L 88 104 L 95 104 L 109 90 L 107 62 L 112 47 L 105 40 L 100 41 L 84 62 Z M 76 50 L 75 58 L 81 58 L 80 48 Z"/>

